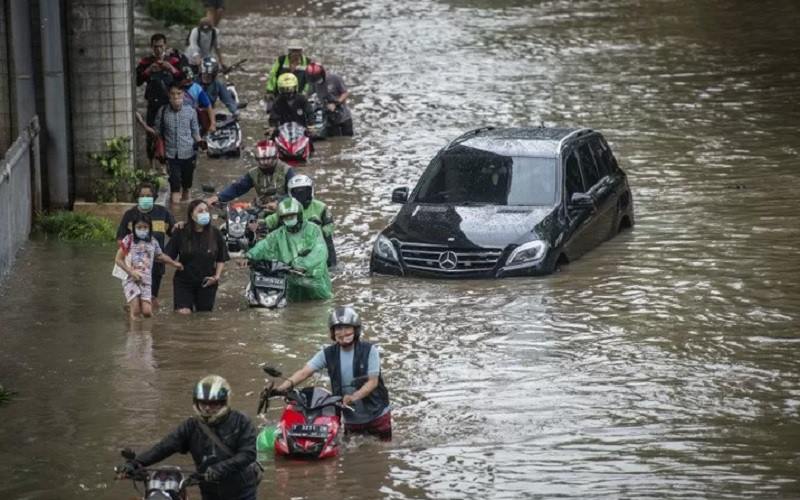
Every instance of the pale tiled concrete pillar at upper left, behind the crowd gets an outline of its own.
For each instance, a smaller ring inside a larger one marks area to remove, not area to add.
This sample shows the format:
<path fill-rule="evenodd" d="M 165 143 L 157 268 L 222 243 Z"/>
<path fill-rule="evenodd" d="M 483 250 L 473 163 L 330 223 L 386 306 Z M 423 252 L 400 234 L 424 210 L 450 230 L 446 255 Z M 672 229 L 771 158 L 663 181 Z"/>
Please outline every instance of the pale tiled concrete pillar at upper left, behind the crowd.
<path fill-rule="evenodd" d="M 134 133 L 133 4 L 73 0 L 67 47 L 76 197 L 87 197 L 99 175 L 88 159 L 105 140 Z M 133 161 L 133 159 L 131 159 Z"/>

